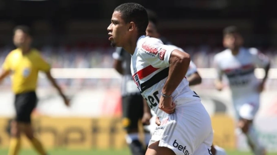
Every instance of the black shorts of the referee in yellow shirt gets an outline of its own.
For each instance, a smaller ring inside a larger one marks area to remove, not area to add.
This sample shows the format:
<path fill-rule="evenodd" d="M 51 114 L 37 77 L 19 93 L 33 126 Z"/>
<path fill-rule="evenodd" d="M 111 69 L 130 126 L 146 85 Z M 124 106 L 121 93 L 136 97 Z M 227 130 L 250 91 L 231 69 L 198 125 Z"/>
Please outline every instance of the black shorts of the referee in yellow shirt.
<path fill-rule="evenodd" d="M 31 113 L 36 107 L 36 92 L 24 92 L 15 95 L 15 111 L 17 122 L 31 123 Z"/>

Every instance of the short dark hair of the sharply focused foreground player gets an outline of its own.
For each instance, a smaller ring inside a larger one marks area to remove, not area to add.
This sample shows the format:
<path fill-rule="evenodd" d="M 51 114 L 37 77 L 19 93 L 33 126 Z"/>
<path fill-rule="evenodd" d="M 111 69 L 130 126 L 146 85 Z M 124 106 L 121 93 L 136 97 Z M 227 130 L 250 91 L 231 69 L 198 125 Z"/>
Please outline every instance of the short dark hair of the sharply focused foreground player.
<path fill-rule="evenodd" d="M 121 13 L 122 19 L 126 22 L 134 22 L 138 27 L 139 34 L 146 34 L 148 26 L 148 16 L 146 9 L 137 3 L 124 3 L 116 7 L 114 11 Z"/>

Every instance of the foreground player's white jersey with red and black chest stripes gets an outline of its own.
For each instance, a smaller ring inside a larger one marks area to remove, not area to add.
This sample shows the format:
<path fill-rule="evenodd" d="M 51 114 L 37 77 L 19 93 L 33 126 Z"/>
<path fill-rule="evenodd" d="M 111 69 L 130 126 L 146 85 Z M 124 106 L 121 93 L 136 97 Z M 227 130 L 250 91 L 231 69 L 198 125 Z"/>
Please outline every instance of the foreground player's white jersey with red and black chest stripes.
<path fill-rule="evenodd" d="M 158 108 L 161 90 L 169 74 L 169 57 L 176 46 L 164 45 L 157 38 L 141 36 L 131 58 L 131 73 L 142 96 L 158 117 L 166 113 Z M 200 100 L 199 96 L 188 87 L 184 77 L 172 93 L 176 107 L 191 101 Z"/>

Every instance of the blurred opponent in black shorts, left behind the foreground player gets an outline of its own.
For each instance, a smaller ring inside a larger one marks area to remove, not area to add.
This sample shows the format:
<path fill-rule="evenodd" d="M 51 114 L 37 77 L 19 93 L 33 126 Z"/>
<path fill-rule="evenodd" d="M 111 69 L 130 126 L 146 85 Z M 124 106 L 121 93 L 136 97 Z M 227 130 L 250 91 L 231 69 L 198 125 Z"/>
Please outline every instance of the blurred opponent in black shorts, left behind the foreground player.
<path fill-rule="evenodd" d="M 147 10 L 149 21 L 157 24 L 157 18 L 152 10 Z M 152 31 L 153 30 L 153 31 Z M 148 29 L 148 33 L 155 35 L 157 31 L 155 29 Z M 146 29 L 147 32 L 147 29 Z M 156 38 L 159 36 L 155 35 Z M 170 44 L 165 38 L 162 38 L 165 44 Z M 134 83 L 131 74 L 131 55 L 126 52 L 122 47 L 117 47 L 113 53 L 114 64 L 113 67 L 118 73 L 123 75 L 121 83 L 121 96 L 122 96 L 122 109 L 123 109 L 123 120 L 122 124 L 127 132 L 126 142 L 128 143 L 133 155 L 145 154 L 145 149 L 142 143 L 139 141 L 138 136 L 138 121 L 142 119 L 144 125 L 150 124 L 151 113 L 146 100 L 141 96 L 137 85 Z M 199 80 L 199 79 L 198 79 Z M 201 77 L 200 77 L 201 80 Z M 146 146 L 150 141 L 150 132 L 148 128 L 144 130 L 144 139 Z"/>

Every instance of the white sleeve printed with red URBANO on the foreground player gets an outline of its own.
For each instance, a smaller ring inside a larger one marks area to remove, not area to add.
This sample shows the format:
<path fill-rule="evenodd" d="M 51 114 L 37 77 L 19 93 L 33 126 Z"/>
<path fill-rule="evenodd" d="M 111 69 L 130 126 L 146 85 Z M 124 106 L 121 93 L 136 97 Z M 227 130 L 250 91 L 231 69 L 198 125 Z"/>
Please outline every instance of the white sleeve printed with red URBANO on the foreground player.
<path fill-rule="evenodd" d="M 173 46 L 164 45 L 160 40 L 145 41 L 138 48 L 139 56 L 155 68 L 169 67 L 171 53 L 177 49 Z"/>

